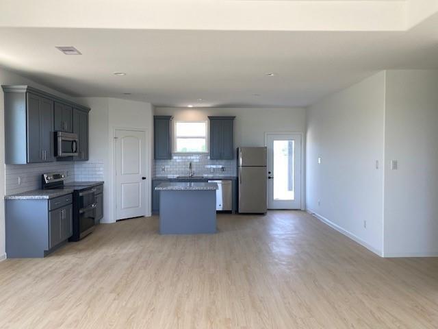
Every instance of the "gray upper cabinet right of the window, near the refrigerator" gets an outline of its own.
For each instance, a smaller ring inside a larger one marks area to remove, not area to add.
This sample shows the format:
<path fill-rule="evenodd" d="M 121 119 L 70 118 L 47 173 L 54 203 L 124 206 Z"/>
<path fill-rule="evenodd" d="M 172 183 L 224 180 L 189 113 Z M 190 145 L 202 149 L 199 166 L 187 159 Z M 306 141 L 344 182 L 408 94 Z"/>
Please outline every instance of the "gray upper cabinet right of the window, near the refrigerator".
<path fill-rule="evenodd" d="M 210 159 L 232 160 L 234 158 L 235 117 L 209 117 Z"/>

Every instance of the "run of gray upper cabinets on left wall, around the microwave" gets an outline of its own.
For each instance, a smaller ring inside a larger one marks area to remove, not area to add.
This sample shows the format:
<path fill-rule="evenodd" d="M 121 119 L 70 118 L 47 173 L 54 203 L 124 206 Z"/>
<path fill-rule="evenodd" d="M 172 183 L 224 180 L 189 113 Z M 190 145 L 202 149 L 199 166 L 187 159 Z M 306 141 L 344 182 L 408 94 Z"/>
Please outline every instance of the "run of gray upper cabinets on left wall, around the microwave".
<path fill-rule="evenodd" d="M 73 108 L 84 113 L 80 160 L 88 160 L 89 108 L 31 86 L 2 86 L 5 95 L 5 163 L 55 161 L 54 132 L 73 131 Z M 85 127 L 86 125 L 86 127 Z"/>

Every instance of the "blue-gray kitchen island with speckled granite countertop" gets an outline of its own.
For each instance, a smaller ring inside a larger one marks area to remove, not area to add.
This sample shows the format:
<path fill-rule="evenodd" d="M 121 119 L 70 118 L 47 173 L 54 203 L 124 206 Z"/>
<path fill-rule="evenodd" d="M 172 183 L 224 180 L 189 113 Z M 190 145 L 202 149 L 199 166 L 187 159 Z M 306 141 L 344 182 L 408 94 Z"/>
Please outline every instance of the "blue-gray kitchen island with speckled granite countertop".
<path fill-rule="evenodd" d="M 216 183 L 162 183 L 159 191 L 160 234 L 216 233 Z"/>

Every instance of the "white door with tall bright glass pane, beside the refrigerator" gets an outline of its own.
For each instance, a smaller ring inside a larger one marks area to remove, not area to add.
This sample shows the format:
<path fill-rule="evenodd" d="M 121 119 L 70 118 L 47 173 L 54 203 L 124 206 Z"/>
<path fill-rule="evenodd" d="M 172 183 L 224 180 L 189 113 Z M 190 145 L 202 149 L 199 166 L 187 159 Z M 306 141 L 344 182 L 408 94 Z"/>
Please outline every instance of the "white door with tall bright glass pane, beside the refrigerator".
<path fill-rule="evenodd" d="M 301 135 L 267 134 L 268 209 L 301 208 Z"/>

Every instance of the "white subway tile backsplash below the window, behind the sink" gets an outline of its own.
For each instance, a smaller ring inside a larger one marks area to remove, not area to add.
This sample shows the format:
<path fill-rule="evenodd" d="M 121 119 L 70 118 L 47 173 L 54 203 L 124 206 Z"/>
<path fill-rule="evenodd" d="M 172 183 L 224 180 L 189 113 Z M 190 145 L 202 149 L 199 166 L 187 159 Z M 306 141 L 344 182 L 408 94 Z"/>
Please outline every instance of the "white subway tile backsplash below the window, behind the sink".
<path fill-rule="evenodd" d="M 210 160 L 208 154 L 174 154 L 171 160 L 155 160 L 153 175 L 186 176 L 189 174 L 189 162 L 192 162 L 196 176 L 235 176 L 235 160 Z"/>

